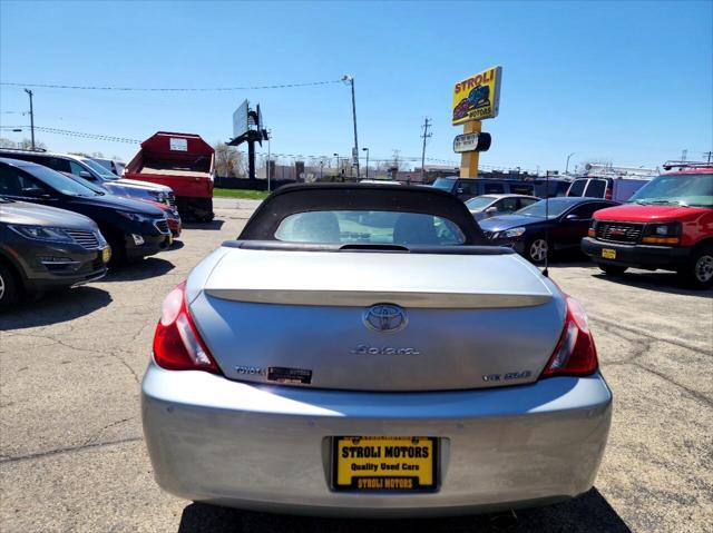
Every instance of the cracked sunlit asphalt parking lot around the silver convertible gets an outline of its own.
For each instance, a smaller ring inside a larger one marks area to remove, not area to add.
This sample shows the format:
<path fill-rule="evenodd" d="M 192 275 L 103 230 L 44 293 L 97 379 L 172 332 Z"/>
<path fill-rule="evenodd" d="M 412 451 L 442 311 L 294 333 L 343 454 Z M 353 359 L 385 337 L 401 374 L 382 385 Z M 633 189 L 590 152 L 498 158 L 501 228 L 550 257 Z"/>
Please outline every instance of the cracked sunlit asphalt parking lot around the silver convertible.
<path fill-rule="evenodd" d="M 153 481 L 139 383 L 165 294 L 256 205 L 222 200 L 168 253 L 0 317 L 0 531 L 713 531 L 713 294 L 671 274 L 550 276 L 584 302 L 615 397 L 596 486 L 504 516 L 339 521 L 215 509 Z M 240 461 L 240 457 L 232 458 Z M 231 457 L 226 457 L 231 461 Z"/>

